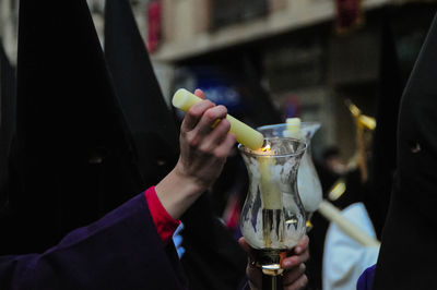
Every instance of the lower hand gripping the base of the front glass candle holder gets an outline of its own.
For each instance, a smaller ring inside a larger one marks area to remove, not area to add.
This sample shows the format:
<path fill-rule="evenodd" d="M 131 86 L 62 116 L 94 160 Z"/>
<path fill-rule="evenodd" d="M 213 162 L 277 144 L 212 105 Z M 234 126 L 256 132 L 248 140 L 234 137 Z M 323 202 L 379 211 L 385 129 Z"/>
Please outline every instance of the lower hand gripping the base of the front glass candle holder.
<path fill-rule="evenodd" d="M 251 265 L 253 257 L 253 250 L 247 243 L 245 238 L 240 238 L 238 243 L 249 255 L 249 259 L 246 267 L 246 275 L 249 280 L 251 290 L 260 290 L 262 285 L 262 273 L 261 269 Z M 300 242 L 294 247 L 293 252 L 295 255 L 287 256 L 281 263 L 281 267 L 284 268 L 282 278 L 284 290 L 299 290 L 304 289 L 308 282 L 308 278 L 305 275 L 304 262 L 309 258 L 308 251 L 309 239 L 305 235 Z"/>

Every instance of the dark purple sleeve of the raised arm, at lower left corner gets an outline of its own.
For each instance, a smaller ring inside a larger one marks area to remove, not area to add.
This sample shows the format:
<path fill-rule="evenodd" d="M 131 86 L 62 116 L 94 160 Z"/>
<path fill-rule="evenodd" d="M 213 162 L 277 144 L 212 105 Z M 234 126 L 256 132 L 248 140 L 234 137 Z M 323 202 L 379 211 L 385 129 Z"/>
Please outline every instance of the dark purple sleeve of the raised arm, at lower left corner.
<path fill-rule="evenodd" d="M 0 257 L 0 289 L 184 289 L 139 194 L 43 254 Z"/>

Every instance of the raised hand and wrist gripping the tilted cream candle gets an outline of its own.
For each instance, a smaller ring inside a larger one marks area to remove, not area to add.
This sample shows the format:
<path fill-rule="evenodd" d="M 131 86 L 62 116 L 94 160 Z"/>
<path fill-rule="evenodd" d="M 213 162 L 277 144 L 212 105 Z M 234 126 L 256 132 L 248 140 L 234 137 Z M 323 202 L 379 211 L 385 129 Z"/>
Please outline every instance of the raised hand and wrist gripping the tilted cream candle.
<path fill-rule="evenodd" d="M 203 92 L 194 93 L 203 98 Z M 175 219 L 208 190 L 222 172 L 236 143 L 228 133 L 227 109 L 210 100 L 193 105 L 180 126 L 180 156 L 176 167 L 155 188 L 162 205 Z"/>

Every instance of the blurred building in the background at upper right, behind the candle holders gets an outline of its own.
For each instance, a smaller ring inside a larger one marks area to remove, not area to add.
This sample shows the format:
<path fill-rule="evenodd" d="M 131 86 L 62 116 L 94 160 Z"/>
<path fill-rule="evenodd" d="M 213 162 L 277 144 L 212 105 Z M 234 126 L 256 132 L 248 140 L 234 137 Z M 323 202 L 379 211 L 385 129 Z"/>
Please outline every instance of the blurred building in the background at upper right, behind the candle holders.
<path fill-rule="evenodd" d="M 157 45 L 151 51 L 155 63 L 185 70 L 225 68 L 238 74 L 247 73 L 238 63 L 250 62 L 255 77 L 269 92 L 284 119 L 298 114 L 304 121 L 322 123 L 312 144 L 315 156 L 335 144 L 344 160 L 355 149 L 354 123 L 345 99 L 368 116 L 376 113 L 381 27 L 387 17 L 395 33 L 400 60 L 409 73 L 436 11 L 433 1 L 151 2 L 161 5 L 160 17 L 152 20 L 160 22 L 161 27 Z M 356 15 L 341 11 L 342 3 L 346 9 L 355 4 Z M 353 16 L 358 19 L 356 23 L 347 23 L 347 17 Z M 180 86 L 169 82 L 168 97 Z"/>

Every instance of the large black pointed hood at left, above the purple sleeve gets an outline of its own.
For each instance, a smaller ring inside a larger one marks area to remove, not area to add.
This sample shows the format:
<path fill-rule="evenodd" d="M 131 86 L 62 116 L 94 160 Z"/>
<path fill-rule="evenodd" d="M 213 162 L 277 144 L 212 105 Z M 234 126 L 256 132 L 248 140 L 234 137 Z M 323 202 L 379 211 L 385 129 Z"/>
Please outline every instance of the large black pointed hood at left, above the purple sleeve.
<path fill-rule="evenodd" d="M 144 190 L 86 1 L 20 1 L 16 117 L 2 252 L 42 252 Z"/>

